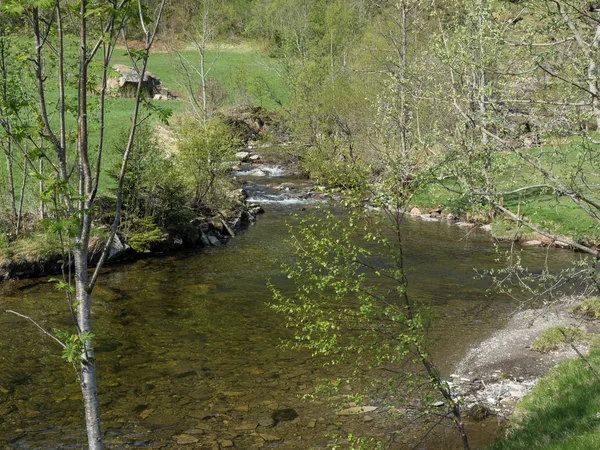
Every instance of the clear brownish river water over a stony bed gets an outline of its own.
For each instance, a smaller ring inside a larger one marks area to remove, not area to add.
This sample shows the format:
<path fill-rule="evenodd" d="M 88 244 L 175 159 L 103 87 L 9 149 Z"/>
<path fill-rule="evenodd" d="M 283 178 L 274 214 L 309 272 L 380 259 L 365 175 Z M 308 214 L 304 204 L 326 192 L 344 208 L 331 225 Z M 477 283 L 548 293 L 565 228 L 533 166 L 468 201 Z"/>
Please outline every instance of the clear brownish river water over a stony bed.
<path fill-rule="evenodd" d="M 107 448 L 308 449 L 347 432 L 385 436 L 389 424 L 376 414 L 365 424 L 336 416 L 339 405 L 303 400 L 340 369 L 278 348 L 289 331 L 266 305 L 266 281 L 290 288 L 280 271 L 290 258 L 286 223 L 297 220 L 290 213 L 309 214 L 313 200 L 299 198 L 302 182 L 267 173 L 249 186 L 266 213 L 227 245 L 104 270 L 93 320 Z M 418 219 L 405 233 L 411 293 L 432 305 L 433 354 L 447 373 L 517 305 L 487 296 L 489 280 L 474 278 L 474 267 L 495 264 L 489 235 Z M 525 255 L 529 267 L 541 266 L 546 250 Z M 573 254 L 551 257 L 561 266 Z M 46 329 L 70 324 L 46 280 L 6 282 L 0 296 L 2 307 Z M 0 315 L 0 448 L 83 448 L 84 433 L 81 394 L 60 349 L 29 323 Z M 493 434 L 477 433 L 481 442 Z"/>

